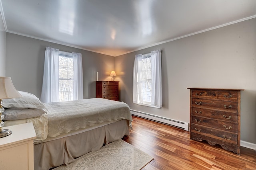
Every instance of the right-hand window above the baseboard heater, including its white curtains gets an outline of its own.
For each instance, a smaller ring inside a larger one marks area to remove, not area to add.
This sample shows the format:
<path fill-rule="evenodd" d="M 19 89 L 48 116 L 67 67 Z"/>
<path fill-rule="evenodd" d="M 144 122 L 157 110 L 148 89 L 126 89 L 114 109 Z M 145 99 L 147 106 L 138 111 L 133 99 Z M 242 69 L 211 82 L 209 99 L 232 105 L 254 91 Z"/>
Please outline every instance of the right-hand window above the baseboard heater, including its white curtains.
<path fill-rule="evenodd" d="M 162 107 L 161 51 L 136 55 L 133 72 L 133 102 Z"/>

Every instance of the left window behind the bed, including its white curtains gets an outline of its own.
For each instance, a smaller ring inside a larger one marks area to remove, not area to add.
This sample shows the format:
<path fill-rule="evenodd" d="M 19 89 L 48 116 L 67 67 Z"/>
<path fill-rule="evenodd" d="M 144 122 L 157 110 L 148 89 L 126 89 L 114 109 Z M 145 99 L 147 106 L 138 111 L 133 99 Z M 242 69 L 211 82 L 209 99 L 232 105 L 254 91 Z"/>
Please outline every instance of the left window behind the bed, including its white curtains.
<path fill-rule="evenodd" d="M 46 47 L 40 100 L 48 103 L 83 98 L 82 54 Z"/>

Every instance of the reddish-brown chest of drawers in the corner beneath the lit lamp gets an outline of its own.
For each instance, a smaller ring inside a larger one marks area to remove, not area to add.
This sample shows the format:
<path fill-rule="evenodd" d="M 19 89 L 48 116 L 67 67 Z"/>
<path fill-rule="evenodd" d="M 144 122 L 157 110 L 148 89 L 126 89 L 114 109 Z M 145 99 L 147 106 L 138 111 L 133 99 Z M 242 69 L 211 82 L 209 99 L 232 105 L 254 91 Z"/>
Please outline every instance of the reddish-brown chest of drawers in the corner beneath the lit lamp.
<path fill-rule="evenodd" d="M 118 101 L 118 82 L 96 81 L 96 98 L 104 98 Z"/>

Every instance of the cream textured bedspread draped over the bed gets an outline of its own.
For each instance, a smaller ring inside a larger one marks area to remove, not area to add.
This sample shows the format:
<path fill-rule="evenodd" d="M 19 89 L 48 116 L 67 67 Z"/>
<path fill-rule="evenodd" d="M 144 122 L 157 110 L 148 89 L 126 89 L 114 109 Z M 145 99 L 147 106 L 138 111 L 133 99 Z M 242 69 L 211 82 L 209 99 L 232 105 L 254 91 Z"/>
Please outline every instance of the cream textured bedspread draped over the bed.
<path fill-rule="evenodd" d="M 32 122 L 36 131 L 35 143 L 47 137 L 78 130 L 80 132 L 101 127 L 122 119 L 129 120 L 132 127 L 132 115 L 126 103 L 102 98 L 91 98 L 69 102 L 45 103 L 47 113 L 30 119 L 5 121 L 5 126 Z M 76 131 L 76 133 L 79 133 Z"/>

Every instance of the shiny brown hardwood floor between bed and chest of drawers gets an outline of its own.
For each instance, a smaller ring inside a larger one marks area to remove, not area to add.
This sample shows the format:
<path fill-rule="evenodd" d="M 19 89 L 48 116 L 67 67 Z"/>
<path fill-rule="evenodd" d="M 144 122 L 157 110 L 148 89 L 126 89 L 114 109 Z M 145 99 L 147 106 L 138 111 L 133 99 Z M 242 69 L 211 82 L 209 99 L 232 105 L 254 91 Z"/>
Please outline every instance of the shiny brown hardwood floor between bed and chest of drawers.
<path fill-rule="evenodd" d="M 142 170 L 256 170 L 255 150 L 241 147 L 241 155 L 192 141 L 189 132 L 133 116 L 130 135 L 123 138 L 154 157 Z"/>

